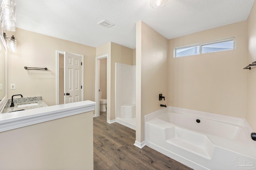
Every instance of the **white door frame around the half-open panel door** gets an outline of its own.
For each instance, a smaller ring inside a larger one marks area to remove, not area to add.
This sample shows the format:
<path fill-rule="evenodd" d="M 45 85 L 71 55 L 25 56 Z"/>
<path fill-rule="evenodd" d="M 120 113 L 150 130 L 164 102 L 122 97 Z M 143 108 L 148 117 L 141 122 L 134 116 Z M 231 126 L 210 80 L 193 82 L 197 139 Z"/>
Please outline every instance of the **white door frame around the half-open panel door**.
<path fill-rule="evenodd" d="M 59 105 L 59 55 L 63 54 L 64 55 L 65 51 L 59 51 L 56 50 L 56 105 Z M 66 51 L 67 52 L 67 51 Z M 76 54 L 76 53 L 71 53 L 77 56 L 80 56 L 82 59 L 82 71 L 81 71 L 81 101 L 84 101 L 84 55 L 81 54 Z"/>

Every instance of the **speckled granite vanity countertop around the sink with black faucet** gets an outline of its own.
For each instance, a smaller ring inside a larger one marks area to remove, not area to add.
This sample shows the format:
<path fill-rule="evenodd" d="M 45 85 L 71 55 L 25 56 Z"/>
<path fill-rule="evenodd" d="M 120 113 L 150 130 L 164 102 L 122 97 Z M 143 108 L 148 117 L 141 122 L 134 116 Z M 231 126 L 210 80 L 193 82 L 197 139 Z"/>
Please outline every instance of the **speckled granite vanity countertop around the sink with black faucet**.
<path fill-rule="evenodd" d="M 19 97 L 19 98 L 14 98 L 13 103 L 14 107 L 10 107 L 12 103 L 12 99 L 8 99 L 6 102 L 6 105 L 4 108 L 1 110 L 0 113 L 9 113 L 12 111 L 19 111 L 19 110 L 28 110 L 28 109 L 35 109 L 35 108 L 40 108 L 40 107 L 47 107 L 46 103 L 42 101 L 42 96 L 37 96 L 37 97 Z M 32 104 L 36 103 L 33 106 L 26 106 L 27 104 Z M 23 105 L 23 107 L 20 107 L 20 105 Z"/>

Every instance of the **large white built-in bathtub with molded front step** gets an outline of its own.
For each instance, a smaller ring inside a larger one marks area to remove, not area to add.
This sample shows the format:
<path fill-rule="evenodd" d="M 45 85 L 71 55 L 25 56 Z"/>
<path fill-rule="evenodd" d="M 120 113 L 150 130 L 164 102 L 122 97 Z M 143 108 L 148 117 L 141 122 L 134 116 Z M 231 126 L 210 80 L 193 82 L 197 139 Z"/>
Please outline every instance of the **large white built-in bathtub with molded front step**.
<path fill-rule="evenodd" d="M 244 119 L 167 107 L 145 116 L 145 144 L 196 170 L 256 169 Z"/>

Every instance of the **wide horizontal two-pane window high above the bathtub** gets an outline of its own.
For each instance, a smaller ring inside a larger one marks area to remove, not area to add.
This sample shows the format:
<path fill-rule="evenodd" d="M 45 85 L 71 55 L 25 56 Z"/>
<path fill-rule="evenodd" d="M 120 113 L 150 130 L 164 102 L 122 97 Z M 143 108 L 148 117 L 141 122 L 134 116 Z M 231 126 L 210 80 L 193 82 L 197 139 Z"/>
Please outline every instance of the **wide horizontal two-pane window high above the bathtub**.
<path fill-rule="evenodd" d="M 174 57 L 235 49 L 235 38 L 174 48 Z"/>

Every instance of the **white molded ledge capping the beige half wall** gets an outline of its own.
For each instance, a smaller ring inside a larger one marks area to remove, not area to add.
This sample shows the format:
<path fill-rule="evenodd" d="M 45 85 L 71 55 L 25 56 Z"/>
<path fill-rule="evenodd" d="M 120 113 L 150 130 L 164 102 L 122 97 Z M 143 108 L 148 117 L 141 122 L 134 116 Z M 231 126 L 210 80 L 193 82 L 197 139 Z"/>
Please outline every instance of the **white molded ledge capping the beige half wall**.
<path fill-rule="evenodd" d="M 0 132 L 94 111 L 95 104 L 93 101 L 80 101 L 0 114 Z"/>

